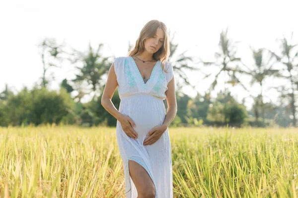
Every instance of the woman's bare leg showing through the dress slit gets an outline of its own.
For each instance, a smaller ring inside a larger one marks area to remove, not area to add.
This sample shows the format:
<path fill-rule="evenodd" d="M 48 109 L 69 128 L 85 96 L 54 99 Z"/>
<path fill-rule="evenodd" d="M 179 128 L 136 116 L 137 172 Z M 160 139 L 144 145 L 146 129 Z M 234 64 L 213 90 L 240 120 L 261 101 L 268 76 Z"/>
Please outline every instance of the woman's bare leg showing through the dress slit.
<path fill-rule="evenodd" d="M 128 166 L 138 198 L 155 198 L 155 187 L 146 169 L 134 160 L 129 160 Z"/>

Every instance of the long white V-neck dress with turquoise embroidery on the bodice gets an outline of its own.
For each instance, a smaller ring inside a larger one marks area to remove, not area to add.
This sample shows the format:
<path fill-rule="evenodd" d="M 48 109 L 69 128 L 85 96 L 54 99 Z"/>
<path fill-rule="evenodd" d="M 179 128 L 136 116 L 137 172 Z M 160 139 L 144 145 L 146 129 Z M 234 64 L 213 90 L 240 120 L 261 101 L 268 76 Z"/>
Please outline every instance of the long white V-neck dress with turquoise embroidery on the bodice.
<path fill-rule="evenodd" d="M 126 198 L 137 198 L 138 192 L 129 174 L 128 161 L 134 160 L 147 170 L 155 186 L 155 198 L 173 198 L 171 144 L 168 128 L 154 144 L 144 146 L 148 132 L 161 125 L 165 118 L 165 91 L 173 77 L 173 68 L 166 62 L 163 71 L 157 61 L 145 83 L 132 56 L 117 57 L 114 68 L 121 99 L 119 112 L 136 124 L 138 138 L 126 135 L 117 121 L 116 137 L 125 175 Z"/>

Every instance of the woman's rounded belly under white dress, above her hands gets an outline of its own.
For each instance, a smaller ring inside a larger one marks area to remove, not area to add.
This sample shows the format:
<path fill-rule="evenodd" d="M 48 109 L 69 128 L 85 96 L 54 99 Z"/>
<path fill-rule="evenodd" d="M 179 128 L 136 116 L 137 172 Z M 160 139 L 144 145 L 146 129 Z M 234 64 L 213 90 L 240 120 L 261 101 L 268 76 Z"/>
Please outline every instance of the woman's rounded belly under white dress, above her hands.
<path fill-rule="evenodd" d="M 149 131 L 162 125 L 165 118 L 163 100 L 145 93 L 122 98 L 119 111 L 135 122 L 136 127 L 133 128 L 139 140 L 145 140 Z"/>

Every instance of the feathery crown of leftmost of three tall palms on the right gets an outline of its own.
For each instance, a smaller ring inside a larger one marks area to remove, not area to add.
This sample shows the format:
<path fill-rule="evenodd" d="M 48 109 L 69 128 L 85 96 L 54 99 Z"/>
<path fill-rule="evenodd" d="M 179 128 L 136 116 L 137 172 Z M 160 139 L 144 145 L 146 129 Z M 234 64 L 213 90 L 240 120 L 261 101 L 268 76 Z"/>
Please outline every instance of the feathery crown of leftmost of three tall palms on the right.
<path fill-rule="evenodd" d="M 241 70 L 239 68 L 241 59 L 235 56 L 237 49 L 234 46 L 234 43 L 227 37 L 227 30 L 228 28 L 226 28 L 225 31 L 223 30 L 220 34 L 220 51 L 215 53 L 216 60 L 214 62 L 206 62 L 201 59 L 204 66 L 214 65 L 220 68 L 219 72 L 215 75 L 215 79 L 210 86 L 210 90 L 215 89 L 215 87 L 218 84 L 218 78 L 222 73 L 224 73 L 224 76 L 227 75 L 229 77 L 229 80 L 227 82 L 225 82 L 224 79 L 224 93 L 226 92 L 225 83 L 229 83 L 232 86 L 240 84 L 245 90 L 247 90 L 246 87 L 239 81 L 238 77 L 236 76 L 237 73 L 241 73 Z M 213 72 L 206 75 L 204 79 L 208 78 L 212 74 Z"/>

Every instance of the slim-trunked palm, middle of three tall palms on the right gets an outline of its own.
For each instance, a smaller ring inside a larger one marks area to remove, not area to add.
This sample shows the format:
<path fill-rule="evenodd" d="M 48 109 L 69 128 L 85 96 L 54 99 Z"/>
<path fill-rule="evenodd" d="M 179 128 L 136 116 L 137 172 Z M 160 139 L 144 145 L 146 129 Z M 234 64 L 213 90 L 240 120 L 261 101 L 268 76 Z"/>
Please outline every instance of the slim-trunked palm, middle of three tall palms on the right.
<path fill-rule="evenodd" d="M 264 86 L 264 80 L 268 77 L 271 76 L 280 76 L 279 70 L 278 69 L 273 69 L 274 62 L 272 62 L 272 58 L 269 58 L 268 61 L 265 63 L 264 61 L 264 52 L 265 49 L 253 49 L 250 47 L 252 50 L 253 54 L 253 59 L 254 59 L 254 65 L 253 68 L 250 69 L 248 66 L 246 66 L 244 63 L 242 63 L 248 71 L 243 71 L 244 73 L 250 75 L 251 82 L 250 85 L 252 86 L 255 83 L 258 83 L 260 85 L 260 93 L 258 94 L 257 97 L 253 97 L 255 100 L 254 104 L 254 113 L 256 116 L 256 123 L 258 123 L 258 109 L 261 107 L 261 112 L 262 112 L 262 117 L 263 117 L 263 126 L 265 126 L 265 106 L 264 106 L 264 100 L 263 100 L 263 86 Z"/>

